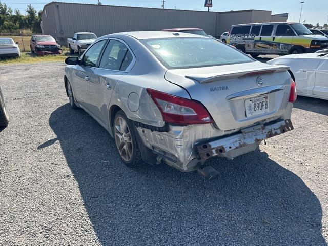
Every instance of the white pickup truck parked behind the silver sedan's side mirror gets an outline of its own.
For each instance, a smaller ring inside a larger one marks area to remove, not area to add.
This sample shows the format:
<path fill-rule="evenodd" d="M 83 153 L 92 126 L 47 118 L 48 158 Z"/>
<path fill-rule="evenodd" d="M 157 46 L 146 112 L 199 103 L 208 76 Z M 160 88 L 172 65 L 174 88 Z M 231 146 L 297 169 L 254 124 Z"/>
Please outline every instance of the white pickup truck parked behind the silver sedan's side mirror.
<path fill-rule="evenodd" d="M 76 32 L 73 38 L 67 38 L 67 46 L 71 54 L 77 51 L 81 55 L 96 39 L 97 36 L 92 32 Z"/>

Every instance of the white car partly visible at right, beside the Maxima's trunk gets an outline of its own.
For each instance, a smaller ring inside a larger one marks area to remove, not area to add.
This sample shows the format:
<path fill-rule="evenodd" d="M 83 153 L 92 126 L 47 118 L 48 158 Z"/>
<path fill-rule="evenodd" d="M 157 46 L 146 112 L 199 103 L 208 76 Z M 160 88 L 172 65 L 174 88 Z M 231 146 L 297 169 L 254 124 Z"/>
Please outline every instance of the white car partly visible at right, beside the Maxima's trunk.
<path fill-rule="evenodd" d="M 290 67 L 297 95 L 328 100 L 328 53 L 285 55 L 268 63 Z"/>

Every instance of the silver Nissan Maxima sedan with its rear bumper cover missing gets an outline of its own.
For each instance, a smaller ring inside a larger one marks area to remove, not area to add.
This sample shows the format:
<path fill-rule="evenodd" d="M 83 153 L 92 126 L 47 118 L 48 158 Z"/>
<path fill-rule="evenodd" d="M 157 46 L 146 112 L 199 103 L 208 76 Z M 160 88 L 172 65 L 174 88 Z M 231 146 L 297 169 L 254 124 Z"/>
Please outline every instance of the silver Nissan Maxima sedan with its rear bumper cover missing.
<path fill-rule="evenodd" d="M 72 108 L 106 128 L 131 167 L 165 162 L 212 179 L 218 173 L 207 159 L 233 159 L 293 129 L 289 67 L 260 63 L 208 37 L 111 34 L 66 64 Z"/>

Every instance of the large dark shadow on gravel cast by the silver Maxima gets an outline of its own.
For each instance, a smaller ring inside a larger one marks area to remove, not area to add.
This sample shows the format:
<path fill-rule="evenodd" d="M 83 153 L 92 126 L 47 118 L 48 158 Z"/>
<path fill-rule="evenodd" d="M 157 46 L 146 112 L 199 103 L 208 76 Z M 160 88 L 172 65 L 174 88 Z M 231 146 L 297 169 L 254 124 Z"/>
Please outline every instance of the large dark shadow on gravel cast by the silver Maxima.
<path fill-rule="evenodd" d="M 317 197 L 264 152 L 212 160 L 221 177 L 207 181 L 125 167 L 107 131 L 69 104 L 49 123 L 103 245 L 327 245 Z"/>

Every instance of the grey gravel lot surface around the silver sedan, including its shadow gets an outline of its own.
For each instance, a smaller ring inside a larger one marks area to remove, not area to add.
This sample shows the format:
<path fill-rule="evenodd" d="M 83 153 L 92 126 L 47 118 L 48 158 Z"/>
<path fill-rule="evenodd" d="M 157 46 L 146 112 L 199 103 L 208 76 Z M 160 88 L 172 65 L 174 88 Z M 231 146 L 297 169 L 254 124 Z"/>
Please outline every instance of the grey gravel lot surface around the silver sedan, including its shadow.
<path fill-rule="evenodd" d="M 71 110 L 64 65 L 0 66 L 0 245 L 327 245 L 328 101 L 299 97 L 294 131 L 214 181 L 166 165 L 129 169 Z"/>

